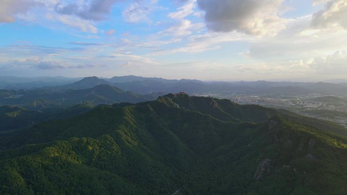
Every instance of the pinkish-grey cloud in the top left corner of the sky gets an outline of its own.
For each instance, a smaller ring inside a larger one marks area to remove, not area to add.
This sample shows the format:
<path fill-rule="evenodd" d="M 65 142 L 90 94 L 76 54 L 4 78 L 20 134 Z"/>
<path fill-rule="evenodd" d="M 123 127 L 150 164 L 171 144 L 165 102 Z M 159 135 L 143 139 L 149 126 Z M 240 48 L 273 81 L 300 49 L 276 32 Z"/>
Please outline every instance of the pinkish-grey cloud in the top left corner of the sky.
<path fill-rule="evenodd" d="M 17 14 L 26 13 L 30 8 L 42 4 L 26 0 L 1 0 L 0 1 L 0 23 L 14 22 Z"/>

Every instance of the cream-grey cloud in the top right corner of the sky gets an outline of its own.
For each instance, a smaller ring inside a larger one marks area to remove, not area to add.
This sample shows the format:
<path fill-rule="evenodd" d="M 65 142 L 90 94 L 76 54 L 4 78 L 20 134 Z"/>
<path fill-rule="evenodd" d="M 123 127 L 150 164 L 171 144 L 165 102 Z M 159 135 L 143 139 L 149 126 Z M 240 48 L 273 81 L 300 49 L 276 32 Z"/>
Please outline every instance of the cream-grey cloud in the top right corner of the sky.
<path fill-rule="evenodd" d="M 325 4 L 325 8 L 313 15 L 312 26 L 326 28 L 340 25 L 347 29 L 347 1 L 332 0 Z"/>

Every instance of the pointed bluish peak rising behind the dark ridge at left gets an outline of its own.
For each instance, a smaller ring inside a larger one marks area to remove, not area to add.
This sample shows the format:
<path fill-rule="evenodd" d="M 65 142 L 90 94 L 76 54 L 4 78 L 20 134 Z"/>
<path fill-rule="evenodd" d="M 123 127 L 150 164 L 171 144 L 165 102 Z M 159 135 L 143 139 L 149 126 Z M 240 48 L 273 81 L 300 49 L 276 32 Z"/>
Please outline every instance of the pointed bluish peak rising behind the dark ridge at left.
<path fill-rule="evenodd" d="M 60 86 L 60 89 L 72 89 L 72 90 L 81 90 L 81 89 L 89 89 L 93 88 L 97 85 L 112 85 L 111 83 L 99 79 L 96 76 L 85 77 L 80 81 L 74 82 L 72 84 Z"/>

